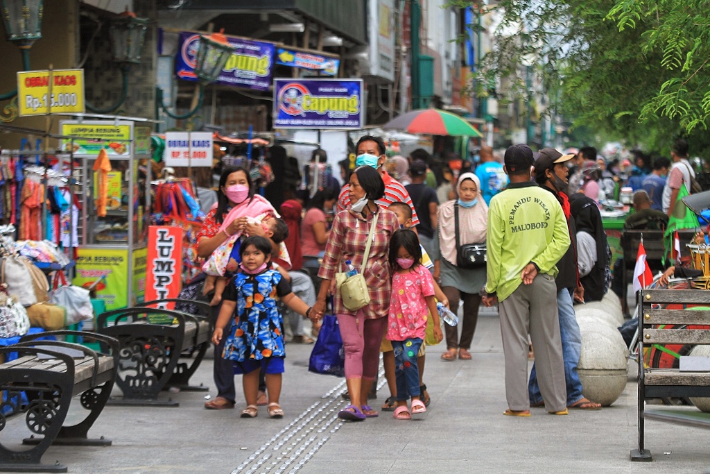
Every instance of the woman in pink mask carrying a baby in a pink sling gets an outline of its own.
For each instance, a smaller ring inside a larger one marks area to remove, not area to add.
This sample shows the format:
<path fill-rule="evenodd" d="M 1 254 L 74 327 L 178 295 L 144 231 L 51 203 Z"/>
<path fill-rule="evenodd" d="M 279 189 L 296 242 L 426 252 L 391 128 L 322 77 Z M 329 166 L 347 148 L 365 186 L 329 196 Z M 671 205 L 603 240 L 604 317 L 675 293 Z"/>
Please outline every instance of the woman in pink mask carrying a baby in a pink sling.
<path fill-rule="evenodd" d="M 268 200 L 254 194 L 249 173 L 241 167 L 227 166 L 219 178 L 217 208 L 209 211 L 202 222 L 200 232 L 197 233 L 197 256 L 209 257 L 217 247 L 237 232 L 266 237 L 261 224 L 253 222 L 254 217 L 264 212 L 271 212 L 273 216 L 278 217 L 278 212 Z M 221 306 L 213 306 L 214 318 L 219 315 Z M 216 354 L 222 353 L 224 339 L 221 344 L 221 347 L 215 348 Z M 217 385 L 217 397 L 205 403 L 204 407 L 215 410 L 234 408 L 234 363 L 222 357 L 214 357 L 213 375 L 214 384 Z M 259 404 L 266 404 L 263 392 L 259 394 Z"/>

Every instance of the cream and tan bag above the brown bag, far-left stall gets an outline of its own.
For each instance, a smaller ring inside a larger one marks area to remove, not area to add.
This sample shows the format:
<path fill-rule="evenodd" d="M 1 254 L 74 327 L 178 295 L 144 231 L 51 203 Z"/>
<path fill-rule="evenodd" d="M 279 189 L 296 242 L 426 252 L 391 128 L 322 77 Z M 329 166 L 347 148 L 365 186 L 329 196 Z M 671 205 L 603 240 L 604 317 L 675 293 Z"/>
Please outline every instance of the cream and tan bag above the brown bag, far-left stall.
<path fill-rule="evenodd" d="M 7 254 L 2 259 L 0 278 L 7 292 L 15 295 L 24 306 L 48 301 L 47 277 L 26 257 Z"/>

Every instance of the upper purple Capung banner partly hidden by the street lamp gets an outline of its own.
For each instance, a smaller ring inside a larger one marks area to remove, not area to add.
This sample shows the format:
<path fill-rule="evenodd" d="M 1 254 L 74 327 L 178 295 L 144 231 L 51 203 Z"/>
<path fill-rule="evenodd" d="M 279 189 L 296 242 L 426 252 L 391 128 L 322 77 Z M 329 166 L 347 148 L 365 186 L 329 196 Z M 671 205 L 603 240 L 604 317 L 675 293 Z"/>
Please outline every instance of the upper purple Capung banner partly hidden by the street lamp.
<path fill-rule="evenodd" d="M 268 90 L 273 75 L 275 45 L 261 41 L 226 37 L 236 47 L 217 78 L 217 84 Z M 197 82 L 195 74 L 197 48 L 200 35 L 180 33 L 178 55 L 175 58 L 175 75 L 183 80 Z"/>

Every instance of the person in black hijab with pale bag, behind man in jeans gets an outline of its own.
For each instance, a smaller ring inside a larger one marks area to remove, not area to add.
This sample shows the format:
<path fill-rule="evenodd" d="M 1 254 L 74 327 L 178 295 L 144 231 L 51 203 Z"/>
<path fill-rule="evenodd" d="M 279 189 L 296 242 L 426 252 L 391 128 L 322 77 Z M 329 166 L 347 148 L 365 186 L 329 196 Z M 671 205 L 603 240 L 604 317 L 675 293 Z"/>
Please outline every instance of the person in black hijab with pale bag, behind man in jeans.
<path fill-rule="evenodd" d="M 576 193 L 569 198 L 569 210 L 577 228 L 577 263 L 584 302 L 601 301 L 611 283 L 611 252 L 599 208 L 593 199 Z"/>

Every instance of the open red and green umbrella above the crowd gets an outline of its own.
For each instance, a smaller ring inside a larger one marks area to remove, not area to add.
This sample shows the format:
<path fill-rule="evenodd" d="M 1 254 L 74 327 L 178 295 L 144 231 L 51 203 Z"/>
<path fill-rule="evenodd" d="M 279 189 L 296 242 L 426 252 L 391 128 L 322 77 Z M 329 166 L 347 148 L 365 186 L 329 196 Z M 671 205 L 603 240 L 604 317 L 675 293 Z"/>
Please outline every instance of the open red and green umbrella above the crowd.
<path fill-rule="evenodd" d="M 410 134 L 483 137 L 465 119 L 439 109 L 412 110 L 387 122 L 383 129 L 403 130 Z"/>

